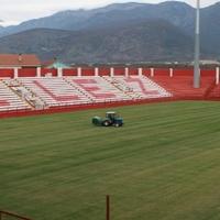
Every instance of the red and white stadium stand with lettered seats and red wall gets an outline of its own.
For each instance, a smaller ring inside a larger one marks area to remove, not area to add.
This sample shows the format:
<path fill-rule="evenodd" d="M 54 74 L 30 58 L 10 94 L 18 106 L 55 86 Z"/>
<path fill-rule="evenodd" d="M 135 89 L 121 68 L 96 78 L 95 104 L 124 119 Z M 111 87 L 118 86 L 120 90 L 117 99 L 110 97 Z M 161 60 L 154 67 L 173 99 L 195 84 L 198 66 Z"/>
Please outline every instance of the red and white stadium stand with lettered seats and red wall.
<path fill-rule="evenodd" d="M 67 75 L 63 69 L 63 74 L 47 76 L 44 73 L 48 70 L 43 69 L 42 75 L 40 68 L 32 74 L 37 77 L 26 75 L 28 69 L 19 69 L 21 74 L 16 77 L 1 75 L 0 111 L 45 111 L 125 102 L 220 99 L 219 68 L 201 69 L 199 89 L 193 87 L 193 69 L 140 69 L 135 68 L 135 73 L 130 73 L 130 68 L 107 68 L 102 73 L 101 68 L 98 72 L 97 68 L 89 68 L 86 69 L 86 75 L 85 68 Z"/>

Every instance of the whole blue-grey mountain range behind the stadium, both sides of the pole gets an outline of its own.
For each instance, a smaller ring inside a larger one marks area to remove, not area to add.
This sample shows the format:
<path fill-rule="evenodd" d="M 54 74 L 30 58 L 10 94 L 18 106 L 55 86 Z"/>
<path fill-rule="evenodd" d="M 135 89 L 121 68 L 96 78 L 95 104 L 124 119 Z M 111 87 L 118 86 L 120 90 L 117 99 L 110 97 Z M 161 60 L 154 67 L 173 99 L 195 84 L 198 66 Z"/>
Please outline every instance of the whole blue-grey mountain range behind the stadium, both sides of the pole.
<path fill-rule="evenodd" d="M 0 28 L 0 53 L 67 63 L 191 61 L 195 9 L 184 2 L 114 3 Z M 220 56 L 220 3 L 201 9 L 202 58 Z"/>

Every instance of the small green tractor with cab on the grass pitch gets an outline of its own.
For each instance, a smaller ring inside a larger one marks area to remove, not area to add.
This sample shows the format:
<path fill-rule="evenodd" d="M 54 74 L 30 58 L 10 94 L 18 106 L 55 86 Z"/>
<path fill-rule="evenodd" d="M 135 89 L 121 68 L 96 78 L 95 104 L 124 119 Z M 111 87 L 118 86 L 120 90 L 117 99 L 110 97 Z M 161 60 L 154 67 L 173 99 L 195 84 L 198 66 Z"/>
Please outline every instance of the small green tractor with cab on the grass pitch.
<path fill-rule="evenodd" d="M 94 117 L 92 118 L 92 124 L 97 127 L 122 127 L 123 125 L 123 119 L 120 118 L 117 112 L 109 111 L 106 113 L 106 118 L 101 119 L 100 117 Z"/>

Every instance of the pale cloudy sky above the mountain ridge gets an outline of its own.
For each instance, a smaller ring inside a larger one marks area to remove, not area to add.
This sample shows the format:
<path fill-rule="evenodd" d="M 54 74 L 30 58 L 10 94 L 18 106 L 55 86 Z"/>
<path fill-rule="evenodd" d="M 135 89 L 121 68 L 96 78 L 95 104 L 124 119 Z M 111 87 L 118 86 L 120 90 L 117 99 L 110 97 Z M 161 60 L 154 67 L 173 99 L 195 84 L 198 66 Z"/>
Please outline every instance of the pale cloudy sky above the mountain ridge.
<path fill-rule="evenodd" d="M 158 3 L 165 0 L 130 0 L 132 2 Z M 110 3 L 130 2 L 129 0 L 0 0 L 0 25 L 19 24 L 30 19 L 51 15 L 57 11 L 72 9 L 92 9 Z M 179 0 L 191 6 L 196 0 Z M 201 7 L 218 0 L 200 0 Z M 219 0 L 220 1 L 220 0 Z"/>

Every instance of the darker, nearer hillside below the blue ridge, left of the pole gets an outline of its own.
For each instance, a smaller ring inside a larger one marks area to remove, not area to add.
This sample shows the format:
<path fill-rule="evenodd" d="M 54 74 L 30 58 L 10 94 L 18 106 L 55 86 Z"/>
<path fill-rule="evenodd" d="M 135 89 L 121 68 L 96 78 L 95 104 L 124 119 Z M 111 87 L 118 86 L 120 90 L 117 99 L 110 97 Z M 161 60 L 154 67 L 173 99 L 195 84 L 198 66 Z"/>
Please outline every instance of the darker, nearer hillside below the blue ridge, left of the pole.
<path fill-rule="evenodd" d="M 36 53 L 67 63 L 183 61 L 191 59 L 193 48 L 189 36 L 163 20 L 96 31 L 37 29 L 0 41 L 0 53 Z"/>

